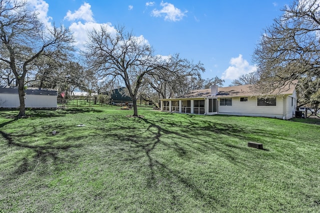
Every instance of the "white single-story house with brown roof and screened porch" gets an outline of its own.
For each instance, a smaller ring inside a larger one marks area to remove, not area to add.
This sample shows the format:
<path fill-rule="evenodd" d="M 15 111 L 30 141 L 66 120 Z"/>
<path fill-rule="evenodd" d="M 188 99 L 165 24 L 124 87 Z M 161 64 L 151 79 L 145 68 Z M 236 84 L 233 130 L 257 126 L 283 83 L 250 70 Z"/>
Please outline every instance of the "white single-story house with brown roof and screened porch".
<path fill-rule="evenodd" d="M 220 87 L 191 91 L 177 98 L 160 99 L 163 112 L 200 115 L 240 115 L 280 119 L 294 117 L 295 85 L 287 84 L 268 94 L 254 92 L 254 85 Z"/>

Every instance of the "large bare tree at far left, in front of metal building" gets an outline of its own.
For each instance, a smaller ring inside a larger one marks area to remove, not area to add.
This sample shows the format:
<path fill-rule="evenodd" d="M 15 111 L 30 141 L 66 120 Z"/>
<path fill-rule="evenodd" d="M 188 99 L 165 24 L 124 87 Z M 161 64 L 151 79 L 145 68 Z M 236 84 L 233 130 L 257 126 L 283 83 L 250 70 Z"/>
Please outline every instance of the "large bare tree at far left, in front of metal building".
<path fill-rule="evenodd" d="M 12 70 L 20 108 L 18 117 L 25 115 L 25 77 L 39 57 L 62 57 L 72 50 L 73 36 L 64 27 L 45 29 L 37 14 L 24 0 L 0 0 L 0 60 Z"/>

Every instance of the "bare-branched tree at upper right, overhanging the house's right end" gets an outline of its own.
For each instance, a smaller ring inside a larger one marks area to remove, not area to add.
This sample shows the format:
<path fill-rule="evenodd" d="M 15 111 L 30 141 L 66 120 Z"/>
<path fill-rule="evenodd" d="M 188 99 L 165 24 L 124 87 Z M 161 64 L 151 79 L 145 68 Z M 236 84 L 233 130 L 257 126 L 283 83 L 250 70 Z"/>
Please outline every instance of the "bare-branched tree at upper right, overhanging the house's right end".
<path fill-rule="evenodd" d="M 293 0 L 282 11 L 254 50 L 260 90 L 274 90 L 296 79 L 314 81 L 320 77 L 318 0 Z"/>

